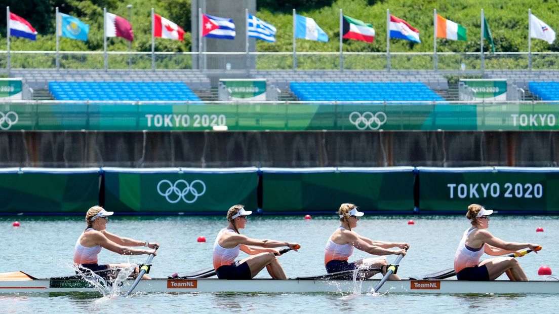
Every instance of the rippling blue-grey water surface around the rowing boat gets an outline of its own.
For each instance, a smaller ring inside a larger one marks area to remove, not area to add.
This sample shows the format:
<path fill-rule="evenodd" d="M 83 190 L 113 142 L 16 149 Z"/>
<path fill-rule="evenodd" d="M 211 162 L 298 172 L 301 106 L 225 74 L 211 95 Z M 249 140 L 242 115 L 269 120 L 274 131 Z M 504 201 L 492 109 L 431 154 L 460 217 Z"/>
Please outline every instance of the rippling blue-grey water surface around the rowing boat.
<path fill-rule="evenodd" d="M 530 279 L 541 265 L 559 271 L 559 260 L 553 246 L 559 232 L 557 216 L 499 216 L 493 215 L 490 231 L 509 241 L 536 242 L 543 246 L 539 254 L 530 253 L 520 259 Z M 114 217 L 114 216 L 113 216 Z M 108 230 L 138 240 L 158 241 L 162 245 L 153 260 L 151 277 L 167 277 L 174 272 L 190 273 L 211 267 L 212 245 L 217 232 L 226 226 L 221 217 L 111 217 Z M 409 219 L 415 225 L 408 225 Z M 73 273 L 75 240 L 85 227 L 82 217 L 17 217 L 18 228 L 12 227 L 15 217 L 0 217 L 0 231 L 4 240 L 0 272 L 23 270 L 35 277 L 56 277 Z M 249 217 L 244 234 L 259 239 L 296 241 L 299 252 L 281 256 L 281 264 L 288 277 L 318 275 L 324 271 L 324 245 L 338 227 L 335 217 L 316 216 L 305 221 L 301 216 Z M 454 251 L 462 232 L 469 223 L 463 216 L 372 216 L 366 215 L 358 223 L 359 234 L 376 240 L 406 241 L 411 244 L 402 259 L 399 275 L 427 274 L 452 267 Z M 536 227 L 544 232 L 536 232 Z M 205 236 L 206 243 L 198 243 Z M 244 253 L 241 253 L 241 256 Z M 353 259 L 367 254 L 355 250 Z M 101 263 L 130 261 L 143 263 L 146 255 L 120 256 L 103 250 Z M 396 256 L 387 256 L 389 262 Z M 487 258 L 487 256 L 484 256 Z M 268 278 L 266 272 L 259 278 Z M 378 275 L 377 275 L 378 277 Z M 136 294 L 132 298 L 100 297 L 96 294 L 20 294 L 0 295 L 0 312 L 557 312 L 559 296 L 466 296 L 466 295 L 408 295 L 383 294 Z"/>

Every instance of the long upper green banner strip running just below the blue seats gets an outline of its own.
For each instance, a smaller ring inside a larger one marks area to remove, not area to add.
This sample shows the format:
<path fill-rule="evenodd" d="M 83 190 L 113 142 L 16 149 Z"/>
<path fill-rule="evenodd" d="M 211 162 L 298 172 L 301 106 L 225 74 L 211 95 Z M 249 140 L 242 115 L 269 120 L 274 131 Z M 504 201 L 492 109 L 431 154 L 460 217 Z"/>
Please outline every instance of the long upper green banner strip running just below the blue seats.
<path fill-rule="evenodd" d="M 0 104 L 0 130 L 559 130 L 559 103 Z"/>

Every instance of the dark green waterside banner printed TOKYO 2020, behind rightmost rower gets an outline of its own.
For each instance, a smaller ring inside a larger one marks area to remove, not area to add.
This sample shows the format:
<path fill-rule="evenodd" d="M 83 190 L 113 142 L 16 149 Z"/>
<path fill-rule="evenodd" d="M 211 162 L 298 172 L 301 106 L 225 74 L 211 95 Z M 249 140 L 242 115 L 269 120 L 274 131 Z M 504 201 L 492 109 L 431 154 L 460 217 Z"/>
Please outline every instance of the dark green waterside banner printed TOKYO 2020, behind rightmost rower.
<path fill-rule="evenodd" d="M 422 211 L 466 213 L 468 205 L 491 210 L 558 211 L 557 168 L 430 168 L 419 170 Z"/>

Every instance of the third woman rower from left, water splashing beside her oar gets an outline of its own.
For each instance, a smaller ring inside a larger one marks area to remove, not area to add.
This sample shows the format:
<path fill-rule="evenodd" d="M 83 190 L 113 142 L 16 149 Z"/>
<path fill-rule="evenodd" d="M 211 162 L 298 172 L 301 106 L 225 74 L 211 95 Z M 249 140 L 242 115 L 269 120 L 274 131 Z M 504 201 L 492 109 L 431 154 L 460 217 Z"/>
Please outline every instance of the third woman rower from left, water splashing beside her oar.
<path fill-rule="evenodd" d="M 353 254 L 353 248 L 365 251 L 369 254 L 374 255 L 406 255 L 406 250 L 404 248 L 409 248 L 410 245 L 407 243 L 392 243 L 375 241 L 368 239 L 367 237 L 360 236 L 357 232 L 352 229 L 357 227 L 357 222 L 359 217 L 363 216 L 362 212 L 357 210 L 357 206 L 350 203 L 344 203 L 340 206 L 338 210 L 338 215 L 340 217 L 340 222 L 342 225 L 334 231 L 326 242 L 326 250 L 324 253 L 324 265 L 326 267 L 326 272 L 337 273 L 344 272 L 347 270 L 364 269 L 364 268 L 383 268 L 387 265 L 386 258 L 366 258 L 362 260 L 356 260 L 352 263 L 348 263 L 349 256 Z M 399 248 L 397 250 L 389 250 L 389 248 Z M 359 274 L 359 277 L 366 279 L 372 275 L 378 273 L 378 270 L 369 270 Z M 386 269 L 383 269 L 382 273 L 386 273 Z M 352 277 L 348 275 L 348 278 Z M 390 275 L 391 280 L 400 280 L 400 277 L 396 274 Z"/>

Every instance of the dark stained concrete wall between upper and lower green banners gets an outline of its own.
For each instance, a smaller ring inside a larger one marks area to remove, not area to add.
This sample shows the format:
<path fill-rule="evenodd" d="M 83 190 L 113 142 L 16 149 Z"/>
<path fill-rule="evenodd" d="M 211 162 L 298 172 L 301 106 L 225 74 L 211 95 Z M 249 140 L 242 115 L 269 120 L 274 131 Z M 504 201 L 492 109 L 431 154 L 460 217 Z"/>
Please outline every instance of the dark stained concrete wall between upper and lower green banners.
<path fill-rule="evenodd" d="M 0 132 L 0 166 L 556 166 L 556 131 Z"/>

